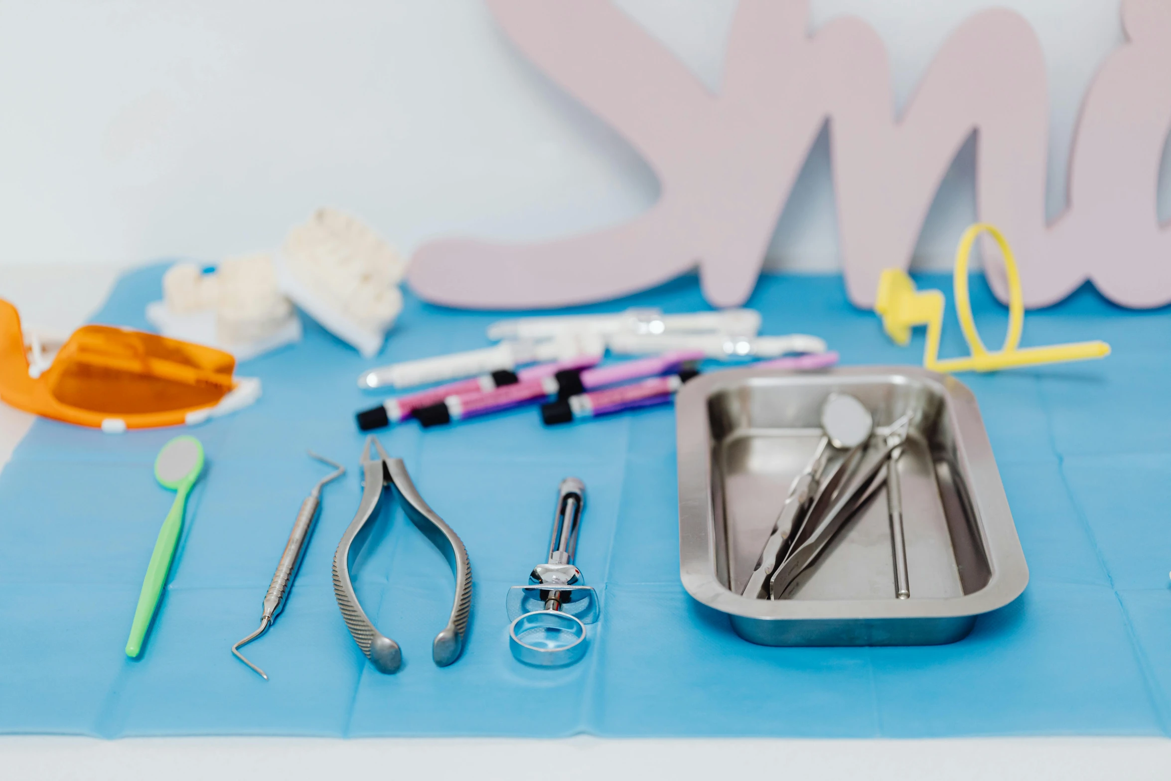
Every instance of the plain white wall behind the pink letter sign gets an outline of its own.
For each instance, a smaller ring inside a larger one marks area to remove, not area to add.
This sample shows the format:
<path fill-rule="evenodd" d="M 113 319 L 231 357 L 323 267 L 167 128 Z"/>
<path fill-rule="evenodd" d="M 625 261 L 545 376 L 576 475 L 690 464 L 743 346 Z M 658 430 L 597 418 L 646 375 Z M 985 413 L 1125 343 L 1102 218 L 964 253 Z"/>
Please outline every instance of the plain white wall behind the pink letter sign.
<path fill-rule="evenodd" d="M 734 0 L 617 2 L 719 88 Z M 949 33 L 989 5 L 812 0 L 812 16 L 814 28 L 844 14 L 874 25 L 902 105 Z M 1000 5 L 1045 48 L 1055 214 L 1082 95 L 1123 40 L 1118 0 Z M 973 159 L 970 144 L 918 265 L 949 266 L 974 214 Z M 0 263 L 214 260 L 276 246 L 324 204 L 406 252 L 439 234 L 546 238 L 628 219 L 656 189 L 621 138 L 512 52 L 479 0 L 0 2 Z M 824 136 L 769 258 L 838 263 Z"/>

